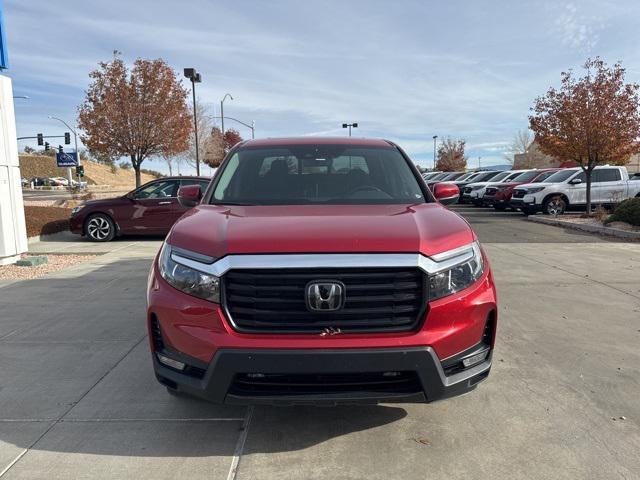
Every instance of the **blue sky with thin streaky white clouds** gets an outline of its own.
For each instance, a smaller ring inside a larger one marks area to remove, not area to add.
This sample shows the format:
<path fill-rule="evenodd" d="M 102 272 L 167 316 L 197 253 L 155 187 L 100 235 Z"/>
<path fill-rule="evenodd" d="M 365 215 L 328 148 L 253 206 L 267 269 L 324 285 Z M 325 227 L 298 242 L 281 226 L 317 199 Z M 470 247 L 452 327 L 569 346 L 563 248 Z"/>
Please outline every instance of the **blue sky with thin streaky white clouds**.
<path fill-rule="evenodd" d="M 203 76 L 198 96 L 258 137 L 354 135 L 433 159 L 432 136 L 501 164 L 533 99 L 588 56 L 640 81 L 640 2 L 468 0 L 5 0 L 18 134 L 75 122 L 97 62 L 165 59 Z M 250 132 L 239 126 L 248 138 Z M 24 146 L 21 145 L 21 147 Z M 160 168 L 152 162 L 150 168 Z"/>

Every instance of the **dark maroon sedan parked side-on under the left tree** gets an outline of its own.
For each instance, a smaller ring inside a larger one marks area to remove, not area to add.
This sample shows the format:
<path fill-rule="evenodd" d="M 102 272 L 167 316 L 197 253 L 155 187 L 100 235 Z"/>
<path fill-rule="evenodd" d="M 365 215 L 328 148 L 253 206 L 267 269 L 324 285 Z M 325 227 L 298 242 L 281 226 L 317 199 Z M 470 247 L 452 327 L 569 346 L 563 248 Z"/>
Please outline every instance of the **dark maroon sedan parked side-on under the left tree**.
<path fill-rule="evenodd" d="M 92 200 L 71 211 L 71 231 L 94 242 L 108 242 L 116 235 L 166 234 L 188 208 L 178 203 L 178 189 L 198 185 L 204 193 L 207 177 L 164 177 L 122 197 Z"/>

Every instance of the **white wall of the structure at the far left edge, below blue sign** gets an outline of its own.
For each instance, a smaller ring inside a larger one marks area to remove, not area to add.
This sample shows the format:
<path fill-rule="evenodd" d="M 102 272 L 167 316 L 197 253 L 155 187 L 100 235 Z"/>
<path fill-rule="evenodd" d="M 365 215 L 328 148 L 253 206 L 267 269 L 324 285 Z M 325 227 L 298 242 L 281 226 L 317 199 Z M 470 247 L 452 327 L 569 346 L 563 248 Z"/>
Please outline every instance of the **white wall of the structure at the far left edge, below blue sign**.
<path fill-rule="evenodd" d="M 11 79 L 0 75 L 0 265 L 27 251 Z"/>

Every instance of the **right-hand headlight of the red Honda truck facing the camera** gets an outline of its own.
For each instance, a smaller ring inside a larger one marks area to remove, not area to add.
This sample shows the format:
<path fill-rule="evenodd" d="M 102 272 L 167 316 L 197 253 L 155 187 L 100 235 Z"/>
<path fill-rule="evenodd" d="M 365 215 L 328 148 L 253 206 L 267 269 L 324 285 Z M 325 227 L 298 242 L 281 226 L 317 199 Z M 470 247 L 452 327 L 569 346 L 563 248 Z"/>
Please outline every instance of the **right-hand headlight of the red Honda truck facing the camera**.
<path fill-rule="evenodd" d="M 482 276 L 484 262 L 478 242 L 471 244 L 471 257 L 442 272 L 429 276 L 429 299 L 435 300 L 459 292 Z"/>

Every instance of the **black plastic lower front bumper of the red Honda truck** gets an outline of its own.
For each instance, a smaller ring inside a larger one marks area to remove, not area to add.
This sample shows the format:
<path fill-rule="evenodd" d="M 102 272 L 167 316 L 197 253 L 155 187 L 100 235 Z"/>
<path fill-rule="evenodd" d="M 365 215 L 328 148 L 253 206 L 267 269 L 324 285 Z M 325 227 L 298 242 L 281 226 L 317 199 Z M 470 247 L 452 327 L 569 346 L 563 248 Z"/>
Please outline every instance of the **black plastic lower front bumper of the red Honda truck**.
<path fill-rule="evenodd" d="M 214 403 L 335 405 L 422 403 L 461 395 L 473 390 L 489 375 L 491 356 L 492 351 L 489 351 L 482 363 L 450 375 L 445 374 L 446 366 L 459 361 L 459 358 L 441 363 L 431 347 L 224 349 L 218 350 L 201 378 L 169 368 L 161 364 L 155 355 L 153 362 L 160 383 Z M 180 358 L 185 360 L 186 357 Z M 255 378 L 253 383 L 247 382 L 247 374 Z M 388 376 L 383 377 L 385 374 Z M 309 383 L 309 379 L 323 375 L 331 377 Z M 283 378 L 297 378 L 298 382 L 295 385 L 286 383 Z M 342 383 L 331 378 L 342 379 Z M 380 381 L 383 378 L 388 381 Z M 410 378 L 414 380 L 408 380 Z"/>

